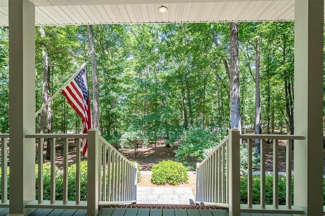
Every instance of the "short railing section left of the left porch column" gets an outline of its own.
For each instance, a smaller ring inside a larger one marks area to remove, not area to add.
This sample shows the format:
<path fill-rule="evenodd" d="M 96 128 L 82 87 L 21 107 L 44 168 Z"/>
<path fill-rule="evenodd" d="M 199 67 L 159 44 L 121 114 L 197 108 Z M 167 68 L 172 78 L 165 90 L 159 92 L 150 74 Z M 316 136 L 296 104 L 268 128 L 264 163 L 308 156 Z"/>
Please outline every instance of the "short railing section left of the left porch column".
<path fill-rule="evenodd" d="M 8 200 L 8 146 L 9 134 L 0 134 L 1 141 L 1 203 L 0 207 L 9 207 Z"/>

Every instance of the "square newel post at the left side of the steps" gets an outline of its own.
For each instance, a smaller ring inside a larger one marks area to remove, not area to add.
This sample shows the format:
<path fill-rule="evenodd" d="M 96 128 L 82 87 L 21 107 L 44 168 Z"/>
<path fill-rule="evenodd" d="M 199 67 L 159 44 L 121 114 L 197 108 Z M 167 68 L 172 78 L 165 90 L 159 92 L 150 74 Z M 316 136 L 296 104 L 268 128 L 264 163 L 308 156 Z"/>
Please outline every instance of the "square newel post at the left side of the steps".
<path fill-rule="evenodd" d="M 98 129 L 88 130 L 88 167 L 87 167 L 87 215 L 98 213 L 99 201 L 99 132 Z"/>

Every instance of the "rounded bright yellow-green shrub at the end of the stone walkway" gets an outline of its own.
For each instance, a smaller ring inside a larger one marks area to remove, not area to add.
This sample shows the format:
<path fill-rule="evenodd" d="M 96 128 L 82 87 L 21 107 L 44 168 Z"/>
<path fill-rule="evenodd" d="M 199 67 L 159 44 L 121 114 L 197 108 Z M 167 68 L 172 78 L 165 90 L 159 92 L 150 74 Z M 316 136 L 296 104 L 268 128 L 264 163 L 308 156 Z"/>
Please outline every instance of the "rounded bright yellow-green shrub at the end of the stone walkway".
<path fill-rule="evenodd" d="M 151 182 L 157 185 L 179 185 L 188 181 L 188 173 L 183 164 L 176 161 L 160 161 L 152 166 Z"/>

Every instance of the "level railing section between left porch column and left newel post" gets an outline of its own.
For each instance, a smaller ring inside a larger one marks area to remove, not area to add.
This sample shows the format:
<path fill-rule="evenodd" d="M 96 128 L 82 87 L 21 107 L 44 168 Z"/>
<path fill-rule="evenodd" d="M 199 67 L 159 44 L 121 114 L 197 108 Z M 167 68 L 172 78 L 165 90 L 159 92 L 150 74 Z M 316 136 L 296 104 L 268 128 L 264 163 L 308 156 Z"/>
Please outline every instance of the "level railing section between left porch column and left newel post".
<path fill-rule="evenodd" d="M 38 182 L 37 182 L 37 200 L 29 202 L 26 207 L 29 208 L 55 208 L 60 206 L 74 207 L 74 208 L 87 208 L 87 202 L 80 200 L 80 149 L 81 149 L 81 139 L 87 138 L 87 134 L 28 134 L 25 135 L 26 138 L 35 138 L 38 143 L 38 155 L 37 155 L 37 164 L 38 164 Z M 44 200 L 44 187 L 43 187 L 43 177 L 44 177 L 44 158 L 43 158 L 43 142 L 44 139 L 48 139 L 50 141 L 50 199 Z M 56 149 L 55 146 L 57 144 L 57 140 L 62 142 L 62 158 L 63 158 L 63 188 L 62 188 L 62 200 L 56 200 L 56 185 L 55 179 L 57 177 L 56 173 Z M 75 176 L 75 200 L 68 200 L 69 196 L 69 178 L 68 178 L 68 160 L 69 160 L 69 146 L 75 145 L 76 148 L 76 176 Z"/>

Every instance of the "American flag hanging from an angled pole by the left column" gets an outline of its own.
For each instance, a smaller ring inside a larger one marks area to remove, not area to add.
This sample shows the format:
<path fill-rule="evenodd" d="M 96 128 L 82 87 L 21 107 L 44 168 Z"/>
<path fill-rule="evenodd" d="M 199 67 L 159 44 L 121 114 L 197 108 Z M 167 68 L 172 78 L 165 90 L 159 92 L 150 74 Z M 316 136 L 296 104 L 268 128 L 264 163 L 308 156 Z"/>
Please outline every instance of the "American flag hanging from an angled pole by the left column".
<path fill-rule="evenodd" d="M 92 128 L 92 119 L 90 111 L 89 92 L 86 80 L 85 67 L 80 73 L 71 80 L 70 83 L 61 89 L 62 94 L 67 98 L 70 105 L 82 119 L 82 133 L 87 133 Z M 83 155 L 87 152 L 87 139 L 82 140 Z"/>

